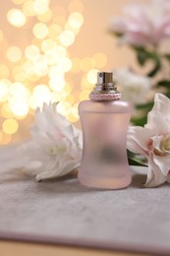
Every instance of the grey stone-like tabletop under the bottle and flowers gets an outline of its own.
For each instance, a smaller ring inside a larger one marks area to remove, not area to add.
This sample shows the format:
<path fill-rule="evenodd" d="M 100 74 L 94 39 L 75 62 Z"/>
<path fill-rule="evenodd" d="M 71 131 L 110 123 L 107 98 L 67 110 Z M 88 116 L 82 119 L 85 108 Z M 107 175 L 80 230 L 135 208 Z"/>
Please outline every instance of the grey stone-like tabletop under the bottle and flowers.
<path fill-rule="evenodd" d="M 170 185 L 144 188 L 133 167 L 123 190 L 81 185 L 77 174 L 37 183 L 21 173 L 0 176 L 0 238 L 170 255 Z"/>

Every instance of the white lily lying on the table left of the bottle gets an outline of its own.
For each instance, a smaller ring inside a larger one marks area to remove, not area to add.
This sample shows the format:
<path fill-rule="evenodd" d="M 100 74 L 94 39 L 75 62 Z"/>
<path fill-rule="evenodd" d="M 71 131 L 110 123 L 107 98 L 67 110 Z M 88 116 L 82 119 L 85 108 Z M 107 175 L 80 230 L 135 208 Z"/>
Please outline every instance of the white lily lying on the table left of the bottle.
<path fill-rule="evenodd" d="M 39 181 L 65 175 L 80 165 L 82 132 L 57 112 L 55 103 L 44 103 L 42 111 L 36 109 L 30 134 L 28 142 L 4 149 L 3 160 L 7 159 L 8 152 L 11 156 L 11 160 L 8 156 L 6 161 L 7 170 L 22 168 L 28 174 L 36 175 Z"/>

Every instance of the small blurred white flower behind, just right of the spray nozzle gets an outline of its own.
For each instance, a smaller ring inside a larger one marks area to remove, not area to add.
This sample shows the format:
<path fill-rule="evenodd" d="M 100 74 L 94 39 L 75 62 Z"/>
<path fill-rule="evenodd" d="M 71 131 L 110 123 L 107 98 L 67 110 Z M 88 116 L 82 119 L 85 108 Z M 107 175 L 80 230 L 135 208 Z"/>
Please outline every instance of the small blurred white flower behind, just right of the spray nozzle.
<path fill-rule="evenodd" d="M 151 87 L 148 77 L 135 74 L 128 68 L 116 70 L 115 75 L 123 100 L 131 101 L 134 104 L 143 103 L 146 100 L 146 95 Z"/>

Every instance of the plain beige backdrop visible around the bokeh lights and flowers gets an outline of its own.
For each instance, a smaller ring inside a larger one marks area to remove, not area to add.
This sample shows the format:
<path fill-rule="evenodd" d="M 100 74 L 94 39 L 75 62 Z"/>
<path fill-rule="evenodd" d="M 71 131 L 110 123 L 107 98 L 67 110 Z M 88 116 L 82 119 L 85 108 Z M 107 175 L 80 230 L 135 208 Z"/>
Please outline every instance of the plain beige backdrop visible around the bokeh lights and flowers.
<path fill-rule="evenodd" d="M 71 0 L 51 0 L 51 9 L 59 7 L 63 8 L 66 18 L 69 16 L 68 5 Z M 133 69 L 145 74 L 147 67 L 140 68 L 137 61 L 135 52 L 127 45 L 119 45 L 118 39 L 109 32 L 111 20 L 118 15 L 122 15 L 122 8 L 129 3 L 149 3 L 151 0 L 80 0 L 84 5 L 84 25 L 81 31 L 76 36 L 76 40 L 73 45 L 69 47 L 69 54 L 71 59 L 74 57 L 92 58 L 97 52 L 102 52 L 107 57 L 107 63 L 103 69 L 113 70 L 115 68 L 133 67 Z M 17 29 L 8 24 L 6 15 L 10 8 L 17 8 L 12 0 L 3 1 L 0 0 L 0 29 L 4 32 L 6 41 L 0 44 L 0 63 L 5 64 L 11 69 L 11 64 L 7 63 L 5 58 L 5 49 L 12 45 L 25 49 L 28 44 L 31 43 L 32 32 L 28 28 Z M 19 6 L 20 8 L 20 6 Z M 57 9 L 56 9 L 57 10 Z M 30 19 L 31 25 L 37 22 L 36 18 Z M 30 26 L 31 27 L 31 26 Z M 169 49 L 169 41 L 163 42 L 161 49 Z M 12 70 L 12 69 L 11 69 Z M 85 72 L 79 73 L 69 72 L 66 77 L 71 79 L 74 83 L 72 95 L 77 98 L 76 103 L 80 101 L 80 93 L 83 91 L 81 88 L 81 80 Z M 39 82 L 38 82 L 39 83 Z M 40 79 L 40 83 L 44 82 L 44 79 Z M 33 87 L 31 85 L 31 87 Z M 0 104 L 1 108 L 1 104 Z M 32 115 L 31 115 L 32 114 Z M 28 118 L 18 120 L 20 128 L 19 131 L 12 135 L 10 142 L 16 142 L 23 140 L 28 136 L 28 127 L 32 123 L 33 111 L 28 115 Z M 0 132 L 1 124 L 4 118 L 0 116 Z M 79 125 L 79 122 L 77 123 Z M 7 140 L 8 141 L 8 140 Z M 1 144 L 1 142 L 0 142 Z"/>

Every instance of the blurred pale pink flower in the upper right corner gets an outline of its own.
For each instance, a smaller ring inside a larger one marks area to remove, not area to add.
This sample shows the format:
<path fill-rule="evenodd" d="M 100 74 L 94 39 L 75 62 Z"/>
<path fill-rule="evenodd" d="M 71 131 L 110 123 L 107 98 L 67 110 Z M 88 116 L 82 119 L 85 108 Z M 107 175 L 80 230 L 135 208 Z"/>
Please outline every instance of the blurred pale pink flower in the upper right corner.
<path fill-rule="evenodd" d="M 122 34 L 120 42 L 144 47 L 170 36 L 169 0 L 128 3 L 123 12 L 125 16 L 114 17 L 111 24 L 113 32 Z"/>

